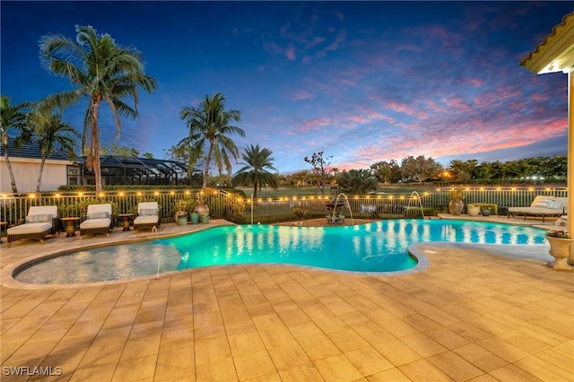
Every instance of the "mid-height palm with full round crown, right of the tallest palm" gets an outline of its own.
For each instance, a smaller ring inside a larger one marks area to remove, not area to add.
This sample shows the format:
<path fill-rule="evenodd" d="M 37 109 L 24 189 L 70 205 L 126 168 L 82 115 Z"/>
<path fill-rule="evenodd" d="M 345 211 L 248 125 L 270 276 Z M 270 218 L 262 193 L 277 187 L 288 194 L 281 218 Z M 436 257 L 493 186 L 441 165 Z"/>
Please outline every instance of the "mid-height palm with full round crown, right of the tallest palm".
<path fill-rule="evenodd" d="M 229 155 L 239 158 L 239 150 L 229 135 L 245 136 L 245 131 L 238 126 L 231 126 L 232 121 L 241 120 L 239 110 L 225 110 L 225 97 L 216 93 L 213 97 L 205 95 L 205 99 L 198 108 L 186 106 L 179 112 L 181 120 L 186 122 L 189 135 L 182 139 L 178 145 L 189 145 L 188 167 L 193 168 L 197 161 L 205 155 L 204 185 L 207 186 L 209 166 L 212 158 L 215 161 L 219 175 L 223 173 L 223 166 L 228 173 L 231 172 Z"/>

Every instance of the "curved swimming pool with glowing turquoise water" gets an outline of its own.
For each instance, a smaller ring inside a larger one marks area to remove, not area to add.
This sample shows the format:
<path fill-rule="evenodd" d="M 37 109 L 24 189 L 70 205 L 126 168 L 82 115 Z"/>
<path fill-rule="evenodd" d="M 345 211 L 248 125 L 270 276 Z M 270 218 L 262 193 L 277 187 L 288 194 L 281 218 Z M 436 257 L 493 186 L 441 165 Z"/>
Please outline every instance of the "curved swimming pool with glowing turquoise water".
<path fill-rule="evenodd" d="M 211 265 L 288 264 L 351 272 L 412 268 L 414 242 L 544 244 L 544 231 L 481 221 L 393 220 L 344 227 L 221 226 L 178 238 L 100 247 L 17 271 L 27 283 L 125 280 Z"/>

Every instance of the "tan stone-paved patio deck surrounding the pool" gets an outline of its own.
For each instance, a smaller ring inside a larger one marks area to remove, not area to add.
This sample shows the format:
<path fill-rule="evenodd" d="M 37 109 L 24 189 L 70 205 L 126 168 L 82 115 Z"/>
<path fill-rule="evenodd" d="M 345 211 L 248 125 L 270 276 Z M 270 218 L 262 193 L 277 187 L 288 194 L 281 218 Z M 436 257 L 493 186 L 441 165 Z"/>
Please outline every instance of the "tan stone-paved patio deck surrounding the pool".
<path fill-rule="evenodd" d="M 525 223 L 489 218 L 499 219 Z M 44 245 L 17 241 L 10 248 L 3 238 L 1 379 L 574 378 L 574 272 L 546 266 L 552 257 L 545 245 L 419 243 L 411 249 L 427 265 L 390 275 L 234 265 L 65 287 L 10 277 L 39 256 L 220 224 L 227 222 L 162 224 L 157 234 L 116 229 L 109 238 L 82 240 L 60 233 Z"/>

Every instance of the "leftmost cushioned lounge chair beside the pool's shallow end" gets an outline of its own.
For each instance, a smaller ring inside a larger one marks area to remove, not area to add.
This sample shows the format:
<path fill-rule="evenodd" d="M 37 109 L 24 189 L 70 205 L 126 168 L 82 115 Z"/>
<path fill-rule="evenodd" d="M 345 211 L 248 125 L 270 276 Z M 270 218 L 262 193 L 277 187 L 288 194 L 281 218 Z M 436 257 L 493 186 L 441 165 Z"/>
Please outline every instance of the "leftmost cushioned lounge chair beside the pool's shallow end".
<path fill-rule="evenodd" d="M 42 205 L 30 207 L 26 220 L 6 230 L 8 247 L 13 241 L 22 239 L 36 239 L 44 244 L 48 234 L 55 234 L 60 229 L 57 218 L 57 205 Z"/>

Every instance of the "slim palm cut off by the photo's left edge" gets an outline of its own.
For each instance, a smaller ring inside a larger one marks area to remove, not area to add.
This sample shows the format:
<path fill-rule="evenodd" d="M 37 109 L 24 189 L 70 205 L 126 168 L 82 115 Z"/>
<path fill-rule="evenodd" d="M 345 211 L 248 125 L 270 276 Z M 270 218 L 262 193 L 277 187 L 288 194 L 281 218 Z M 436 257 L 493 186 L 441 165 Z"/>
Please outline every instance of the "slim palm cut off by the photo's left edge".
<path fill-rule="evenodd" d="M 18 187 L 16 187 L 16 179 L 14 178 L 12 164 L 10 163 L 10 158 L 8 156 L 8 129 L 12 128 L 19 131 L 19 135 L 15 140 L 16 147 L 19 147 L 22 142 L 30 141 L 30 128 L 28 128 L 28 125 L 26 124 L 26 117 L 28 115 L 26 109 L 28 108 L 30 108 L 29 102 L 22 102 L 13 106 L 10 104 L 9 97 L 0 95 L 0 115 L 2 117 L 0 129 L 2 130 L 2 147 L 4 150 L 4 161 L 6 161 L 6 167 L 10 174 L 10 184 L 14 194 L 18 192 Z"/>

